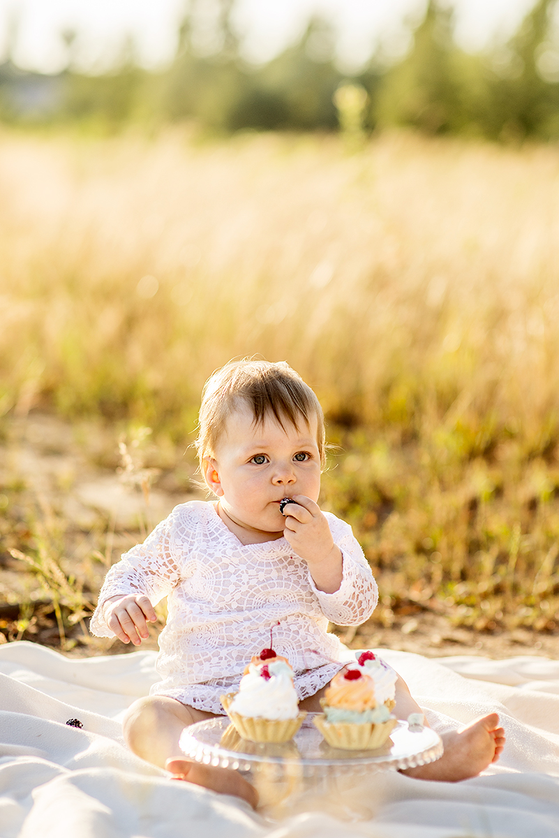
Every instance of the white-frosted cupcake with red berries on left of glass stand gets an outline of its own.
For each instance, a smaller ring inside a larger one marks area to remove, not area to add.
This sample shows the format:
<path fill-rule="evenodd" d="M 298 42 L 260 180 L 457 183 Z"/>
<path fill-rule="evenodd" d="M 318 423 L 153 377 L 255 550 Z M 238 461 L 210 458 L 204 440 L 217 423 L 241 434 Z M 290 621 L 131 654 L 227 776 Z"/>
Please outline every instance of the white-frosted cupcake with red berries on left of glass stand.
<path fill-rule="evenodd" d="M 221 703 L 237 732 L 250 742 L 289 742 L 306 716 L 299 711 L 289 661 L 273 649 L 254 656 L 238 692 L 221 696 Z"/>

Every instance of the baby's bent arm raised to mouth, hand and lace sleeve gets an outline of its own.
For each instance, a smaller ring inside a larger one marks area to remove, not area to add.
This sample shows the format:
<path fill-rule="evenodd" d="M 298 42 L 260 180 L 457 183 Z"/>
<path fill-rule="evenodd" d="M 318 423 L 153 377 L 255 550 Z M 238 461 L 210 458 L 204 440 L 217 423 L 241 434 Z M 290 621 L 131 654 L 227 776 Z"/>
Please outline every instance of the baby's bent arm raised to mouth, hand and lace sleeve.
<path fill-rule="evenodd" d="M 332 623 L 359 625 L 377 605 L 378 589 L 351 526 L 304 495 L 285 505 L 284 535 L 309 566 L 310 585 Z"/>

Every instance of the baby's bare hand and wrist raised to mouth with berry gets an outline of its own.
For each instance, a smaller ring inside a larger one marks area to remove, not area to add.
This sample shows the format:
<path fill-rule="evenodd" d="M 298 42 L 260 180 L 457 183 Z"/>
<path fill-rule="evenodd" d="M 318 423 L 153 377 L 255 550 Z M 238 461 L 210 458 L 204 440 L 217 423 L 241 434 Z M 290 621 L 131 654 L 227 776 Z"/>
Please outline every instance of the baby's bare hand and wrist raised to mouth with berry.
<path fill-rule="evenodd" d="M 284 535 L 309 566 L 316 587 L 333 593 L 341 585 L 341 550 L 334 544 L 326 516 L 314 500 L 294 494 L 295 504 L 285 504 Z"/>

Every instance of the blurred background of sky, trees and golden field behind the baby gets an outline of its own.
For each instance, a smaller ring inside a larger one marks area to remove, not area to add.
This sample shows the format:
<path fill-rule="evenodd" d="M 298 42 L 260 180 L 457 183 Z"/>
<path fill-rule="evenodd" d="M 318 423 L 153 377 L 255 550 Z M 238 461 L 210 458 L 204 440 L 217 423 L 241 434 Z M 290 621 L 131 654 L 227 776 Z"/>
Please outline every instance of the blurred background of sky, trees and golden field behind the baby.
<path fill-rule="evenodd" d="M 380 583 L 346 642 L 553 651 L 559 3 L 3 0 L 0 38 L 0 642 L 108 648 L 107 567 L 259 354 Z"/>

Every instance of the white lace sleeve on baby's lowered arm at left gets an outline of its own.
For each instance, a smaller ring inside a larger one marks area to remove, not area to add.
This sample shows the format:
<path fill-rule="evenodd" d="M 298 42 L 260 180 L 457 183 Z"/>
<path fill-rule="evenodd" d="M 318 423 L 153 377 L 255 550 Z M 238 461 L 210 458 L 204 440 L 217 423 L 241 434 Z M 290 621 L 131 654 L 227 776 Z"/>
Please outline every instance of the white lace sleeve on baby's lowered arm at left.
<path fill-rule="evenodd" d="M 177 507 L 177 510 L 179 508 Z M 156 605 L 181 579 L 175 556 L 173 531 L 175 512 L 158 524 L 146 541 L 132 547 L 110 568 L 99 593 L 97 608 L 90 622 L 90 632 L 96 637 L 112 637 L 105 623 L 103 605 L 117 594 L 145 594 Z"/>

